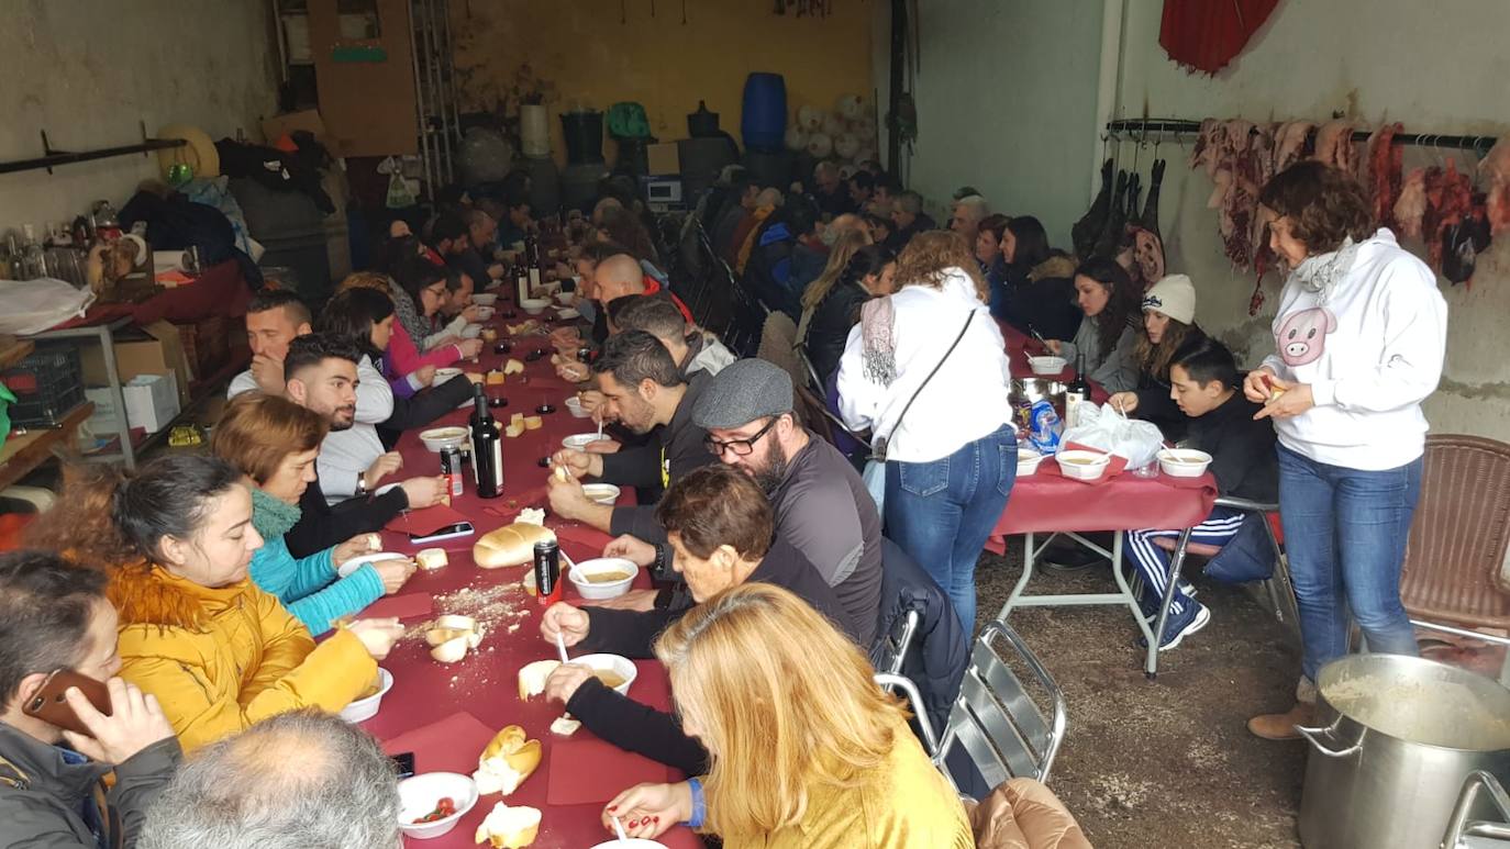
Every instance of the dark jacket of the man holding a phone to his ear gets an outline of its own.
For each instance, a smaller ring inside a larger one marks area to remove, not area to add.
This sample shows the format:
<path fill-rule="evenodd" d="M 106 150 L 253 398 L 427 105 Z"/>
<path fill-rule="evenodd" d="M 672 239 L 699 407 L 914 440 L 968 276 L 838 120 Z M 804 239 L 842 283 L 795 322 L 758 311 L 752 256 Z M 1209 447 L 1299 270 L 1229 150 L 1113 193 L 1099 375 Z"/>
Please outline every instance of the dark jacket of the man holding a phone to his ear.
<path fill-rule="evenodd" d="M 82 756 L 72 756 L 76 760 Z M 0 844 L 36 849 L 110 846 L 130 849 L 146 807 L 178 771 L 177 737 L 159 740 L 115 766 L 68 763 L 63 749 L 0 722 Z M 97 805 L 104 804 L 104 810 Z M 95 822 L 85 810 L 98 811 Z"/>

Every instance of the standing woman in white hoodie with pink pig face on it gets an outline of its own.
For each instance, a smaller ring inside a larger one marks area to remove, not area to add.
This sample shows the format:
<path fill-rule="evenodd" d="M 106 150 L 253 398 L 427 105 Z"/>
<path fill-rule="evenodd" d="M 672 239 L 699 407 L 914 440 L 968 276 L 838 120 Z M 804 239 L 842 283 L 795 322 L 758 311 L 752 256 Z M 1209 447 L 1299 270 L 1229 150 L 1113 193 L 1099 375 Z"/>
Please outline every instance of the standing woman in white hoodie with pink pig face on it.
<path fill-rule="evenodd" d="M 1315 713 L 1315 677 L 1347 654 L 1415 654 L 1400 603 L 1406 535 L 1421 493 L 1421 401 L 1442 377 L 1447 303 L 1436 274 L 1373 229 L 1351 176 L 1305 161 L 1268 181 L 1270 246 L 1293 268 L 1274 315 L 1276 353 L 1247 375 L 1279 434 L 1279 510 L 1303 642 L 1297 704 L 1249 730 L 1290 739 Z"/>

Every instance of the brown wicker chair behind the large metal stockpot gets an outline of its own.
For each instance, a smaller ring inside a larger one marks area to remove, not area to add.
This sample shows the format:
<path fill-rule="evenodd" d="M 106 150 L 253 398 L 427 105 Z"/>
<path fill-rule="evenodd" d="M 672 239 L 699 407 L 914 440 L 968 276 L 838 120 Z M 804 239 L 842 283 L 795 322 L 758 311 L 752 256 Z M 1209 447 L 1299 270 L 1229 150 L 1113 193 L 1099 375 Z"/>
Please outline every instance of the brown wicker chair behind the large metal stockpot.
<path fill-rule="evenodd" d="M 1510 638 L 1510 445 L 1478 436 L 1425 439 L 1421 501 L 1406 543 L 1400 597 L 1416 627 L 1501 645 Z M 1510 682 L 1510 654 L 1499 676 Z"/>

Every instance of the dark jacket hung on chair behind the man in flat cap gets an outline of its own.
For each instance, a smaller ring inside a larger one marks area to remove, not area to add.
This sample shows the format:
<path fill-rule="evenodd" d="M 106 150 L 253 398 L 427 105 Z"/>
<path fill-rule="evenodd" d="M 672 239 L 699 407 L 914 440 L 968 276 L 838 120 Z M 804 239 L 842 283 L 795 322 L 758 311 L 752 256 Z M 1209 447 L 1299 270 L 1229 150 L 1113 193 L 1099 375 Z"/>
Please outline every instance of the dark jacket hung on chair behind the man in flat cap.
<path fill-rule="evenodd" d="M 950 709 L 969 665 L 969 635 L 939 585 L 897 543 L 882 540 L 882 603 L 870 659 L 880 665 L 886 639 L 909 611 L 918 629 L 901 664 L 901 674 L 918 685 L 929 722 L 942 737 Z"/>

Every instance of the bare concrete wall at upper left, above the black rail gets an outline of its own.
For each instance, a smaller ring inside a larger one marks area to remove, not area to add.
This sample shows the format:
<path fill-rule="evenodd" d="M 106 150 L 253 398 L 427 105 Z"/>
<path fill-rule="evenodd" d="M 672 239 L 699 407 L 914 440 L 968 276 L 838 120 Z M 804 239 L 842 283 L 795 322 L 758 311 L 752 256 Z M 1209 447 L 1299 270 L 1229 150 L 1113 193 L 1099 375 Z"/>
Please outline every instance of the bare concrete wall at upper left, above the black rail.
<path fill-rule="evenodd" d="M 29 0 L 5 6 L 0 27 L 0 158 L 54 148 L 89 149 L 140 140 L 163 124 L 192 124 L 211 139 L 275 107 L 276 47 L 266 0 Z M 95 199 L 116 205 L 157 158 L 97 160 L 0 175 L 0 232 L 72 219 Z"/>

